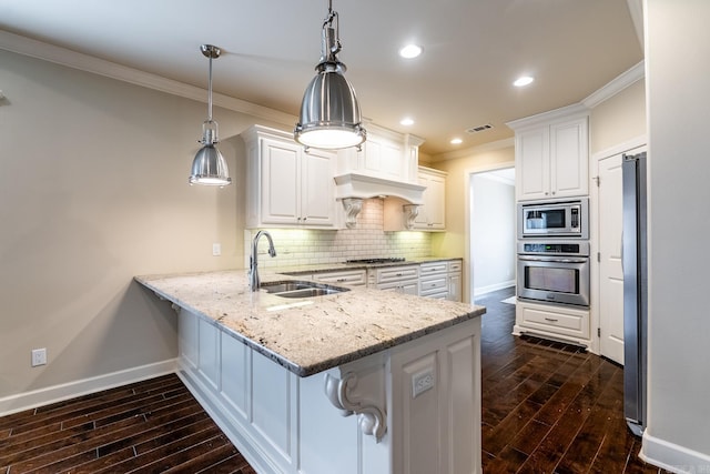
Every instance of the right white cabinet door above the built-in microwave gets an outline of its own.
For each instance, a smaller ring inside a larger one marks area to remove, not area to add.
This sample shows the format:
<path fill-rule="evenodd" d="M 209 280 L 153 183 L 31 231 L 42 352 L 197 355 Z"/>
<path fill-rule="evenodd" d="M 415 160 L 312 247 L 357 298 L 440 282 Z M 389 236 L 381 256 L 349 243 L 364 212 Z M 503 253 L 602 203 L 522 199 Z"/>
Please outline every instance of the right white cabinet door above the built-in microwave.
<path fill-rule="evenodd" d="M 588 184 L 587 118 L 550 125 L 551 196 L 586 195 Z"/>

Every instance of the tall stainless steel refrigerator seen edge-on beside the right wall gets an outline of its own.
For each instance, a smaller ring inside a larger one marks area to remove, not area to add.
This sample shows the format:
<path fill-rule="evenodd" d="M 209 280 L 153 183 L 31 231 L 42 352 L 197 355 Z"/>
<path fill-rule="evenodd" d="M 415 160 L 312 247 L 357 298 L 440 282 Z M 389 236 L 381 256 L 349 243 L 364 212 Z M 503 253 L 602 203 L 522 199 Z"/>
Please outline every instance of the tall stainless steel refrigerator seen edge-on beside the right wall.
<path fill-rule="evenodd" d="M 646 152 L 625 154 L 623 233 L 623 414 L 633 434 L 646 428 L 648 259 Z"/>

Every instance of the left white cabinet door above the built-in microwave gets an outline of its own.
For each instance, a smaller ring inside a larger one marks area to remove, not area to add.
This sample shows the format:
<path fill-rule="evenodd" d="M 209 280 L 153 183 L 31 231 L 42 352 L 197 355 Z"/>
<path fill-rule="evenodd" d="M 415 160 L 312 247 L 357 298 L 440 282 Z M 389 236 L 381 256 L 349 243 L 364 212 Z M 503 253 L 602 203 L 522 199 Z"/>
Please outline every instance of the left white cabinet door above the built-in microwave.
<path fill-rule="evenodd" d="M 550 198 L 549 128 L 516 133 L 515 142 L 518 200 Z"/>

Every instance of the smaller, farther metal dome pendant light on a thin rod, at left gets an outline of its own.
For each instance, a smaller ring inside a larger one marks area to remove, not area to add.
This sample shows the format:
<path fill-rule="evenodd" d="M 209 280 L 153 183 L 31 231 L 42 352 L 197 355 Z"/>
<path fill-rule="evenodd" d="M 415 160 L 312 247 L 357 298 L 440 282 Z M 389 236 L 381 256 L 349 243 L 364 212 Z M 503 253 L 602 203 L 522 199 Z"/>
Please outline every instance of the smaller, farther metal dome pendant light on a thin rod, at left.
<path fill-rule="evenodd" d="M 200 47 L 202 54 L 210 58 L 210 85 L 207 92 L 207 120 L 202 123 L 203 144 L 195 159 L 192 161 L 192 174 L 190 184 L 204 184 L 211 186 L 224 186 L 232 183 L 226 161 L 215 144 L 217 139 L 217 122 L 212 120 L 212 60 L 220 57 L 220 48 L 212 44 Z"/>

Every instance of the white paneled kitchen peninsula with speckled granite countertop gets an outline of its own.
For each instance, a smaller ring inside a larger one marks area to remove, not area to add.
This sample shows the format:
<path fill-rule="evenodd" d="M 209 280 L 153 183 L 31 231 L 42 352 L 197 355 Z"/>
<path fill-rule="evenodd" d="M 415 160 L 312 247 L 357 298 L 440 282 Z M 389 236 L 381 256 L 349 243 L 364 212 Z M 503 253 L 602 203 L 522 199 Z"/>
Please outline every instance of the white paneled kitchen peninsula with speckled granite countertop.
<path fill-rule="evenodd" d="M 286 299 L 244 271 L 135 280 L 179 312 L 180 376 L 260 473 L 480 472 L 484 307 Z"/>

